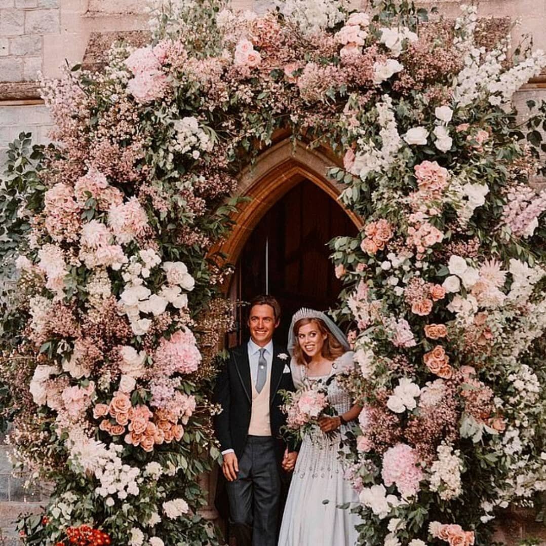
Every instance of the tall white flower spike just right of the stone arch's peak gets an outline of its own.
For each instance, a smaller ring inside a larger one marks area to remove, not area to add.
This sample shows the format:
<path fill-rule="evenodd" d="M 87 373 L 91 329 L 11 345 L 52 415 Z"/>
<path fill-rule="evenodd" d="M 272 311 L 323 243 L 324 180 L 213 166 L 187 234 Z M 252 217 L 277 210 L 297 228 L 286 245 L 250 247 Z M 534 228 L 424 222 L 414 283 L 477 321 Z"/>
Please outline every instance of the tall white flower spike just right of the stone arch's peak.
<path fill-rule="evenodd" d="M 394 164 L 396 153 L 402 146 L 394 117 L 393 103 L 388 95 L 383 95 L 383 102 L 377 103 L 379 136 L 382 148 L 378 150 L 372 141 L 359 141 L 360 151 L 349 171 L 361 179 L 373 171 L 386 171 Z M 351 189 L 351 188 L 348 188 Z"/>

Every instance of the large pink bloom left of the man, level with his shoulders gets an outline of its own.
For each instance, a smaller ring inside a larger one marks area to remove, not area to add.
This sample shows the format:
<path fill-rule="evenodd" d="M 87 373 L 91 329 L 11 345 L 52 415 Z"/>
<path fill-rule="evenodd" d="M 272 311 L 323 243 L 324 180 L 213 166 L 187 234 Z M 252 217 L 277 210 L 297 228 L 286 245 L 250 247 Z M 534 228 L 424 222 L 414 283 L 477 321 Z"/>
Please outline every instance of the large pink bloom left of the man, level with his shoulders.
<path fill-rule="evenodd" d="M 169 340 L 165 337 L 161 338 L 153 359 L 155 371 L 169 377 L 176 372 L 197 371 L 201 353 L 191 330 L 177 330 Z"/>

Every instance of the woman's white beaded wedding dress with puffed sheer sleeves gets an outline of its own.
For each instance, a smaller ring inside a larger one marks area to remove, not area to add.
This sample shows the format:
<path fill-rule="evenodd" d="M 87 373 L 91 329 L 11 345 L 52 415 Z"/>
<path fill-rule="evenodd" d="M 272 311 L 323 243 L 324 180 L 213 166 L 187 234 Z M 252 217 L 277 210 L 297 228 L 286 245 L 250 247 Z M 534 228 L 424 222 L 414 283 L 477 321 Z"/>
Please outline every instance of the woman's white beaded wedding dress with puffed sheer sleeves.
<path fill-rule="evenodd" d="M 319 381 L 326 384 L 332 375 L 351 369 L 353 353 L 341 355 L 327 376 L 306 377 L 304 366 L 290 363 L 294 386 Z M 352 404 L 347 393 L 334 378 L 328 385 L 328 399 L 337 414 L 347 412 Z M 358 514 L 350 509 L 337 508 L 346 502 L 357 503 L 357 492 L 343 477 L 338 455 L 341 435 L 346 426 L 328 437 L 320 429 L 304 438 L 290 482 L 288 498 L 282 517 L 278 546 L 354 546 L 360 523 Z"/>

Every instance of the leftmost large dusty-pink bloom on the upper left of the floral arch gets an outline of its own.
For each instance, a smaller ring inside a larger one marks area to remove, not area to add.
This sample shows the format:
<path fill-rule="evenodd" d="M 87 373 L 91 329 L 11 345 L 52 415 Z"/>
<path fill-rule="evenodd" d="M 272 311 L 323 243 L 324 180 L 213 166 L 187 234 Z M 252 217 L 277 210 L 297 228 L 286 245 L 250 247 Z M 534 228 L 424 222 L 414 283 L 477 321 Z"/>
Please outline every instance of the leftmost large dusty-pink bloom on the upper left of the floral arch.
<path fill-rule="evenodd" d="M 44 195 L 45 228 L 54 241 L 76 241 L 80 229 L 80 207 L 70 186 L 58 183 Z"/>

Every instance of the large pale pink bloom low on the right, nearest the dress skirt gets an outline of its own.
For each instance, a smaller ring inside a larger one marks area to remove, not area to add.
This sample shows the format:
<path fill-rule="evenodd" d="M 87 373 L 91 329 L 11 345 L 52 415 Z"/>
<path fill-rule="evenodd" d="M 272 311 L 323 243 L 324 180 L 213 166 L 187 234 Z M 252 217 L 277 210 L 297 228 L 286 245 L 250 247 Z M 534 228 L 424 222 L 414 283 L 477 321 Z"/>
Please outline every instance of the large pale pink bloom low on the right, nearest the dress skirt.
<path fill-rule="evenodd" d="M 415 450 L 407 444 L 399 443 L 383 454 L 381 476 L 385 485 L 396 485 L 400 494 L 407 498 L 419 491 L 423 471 L 417 465 L 419 459 Z"/>

